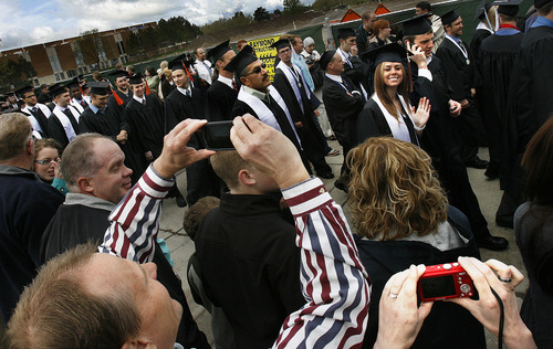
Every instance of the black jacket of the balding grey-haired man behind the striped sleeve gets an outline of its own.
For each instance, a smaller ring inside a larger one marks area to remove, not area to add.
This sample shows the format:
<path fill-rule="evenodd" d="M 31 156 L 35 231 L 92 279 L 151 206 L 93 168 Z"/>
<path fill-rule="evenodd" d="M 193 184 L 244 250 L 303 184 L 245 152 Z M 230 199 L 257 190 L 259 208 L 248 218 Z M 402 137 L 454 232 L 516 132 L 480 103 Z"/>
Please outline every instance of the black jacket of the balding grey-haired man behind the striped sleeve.
<path fill-rule="evenodd" d="M 88 241 L 102 242 L 109 226 L 108 210 L 82 204 L 62 204 L 44 231 L 41 244 L 41 261 L 45 262 L 77 244 Z M 154 262 L 157 265 L 157 281 L 169 292 L 173 299 L 182 306 L 182 317 L 177 332 L 177 342 L 185 348 L 209 348 L 206 335 L 198 329 L 190 313 L 182 285 L 169 262 L 154 241 Z"/>

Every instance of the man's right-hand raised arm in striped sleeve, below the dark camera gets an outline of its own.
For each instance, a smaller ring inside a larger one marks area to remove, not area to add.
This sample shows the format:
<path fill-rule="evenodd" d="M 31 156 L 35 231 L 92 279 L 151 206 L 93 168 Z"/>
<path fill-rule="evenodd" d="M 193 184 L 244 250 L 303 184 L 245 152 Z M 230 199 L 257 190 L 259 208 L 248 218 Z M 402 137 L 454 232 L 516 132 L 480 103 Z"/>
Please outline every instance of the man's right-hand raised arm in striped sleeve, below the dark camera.
<path fill-rule="evenodd" d="M 272 177 L 295 219 L 305 305 L 289 315 L 273 348 L 361 348 L 371 286 L 342 208 L 311 178 L 294 146 L 250 115 L 234 119 L 240 156 Z"/>

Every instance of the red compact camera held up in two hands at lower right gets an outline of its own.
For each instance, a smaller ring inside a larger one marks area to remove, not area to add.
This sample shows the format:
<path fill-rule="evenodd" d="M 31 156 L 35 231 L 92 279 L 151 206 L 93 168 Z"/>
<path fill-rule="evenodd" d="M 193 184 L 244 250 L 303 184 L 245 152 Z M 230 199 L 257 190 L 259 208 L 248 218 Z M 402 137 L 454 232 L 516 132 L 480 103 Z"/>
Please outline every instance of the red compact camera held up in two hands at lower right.
<path fill-rule="evenodd" d="M 421 302 L 477 295 L 472 279 L 457 262 L 427 266 L 418 281 L 417 293 Z"/>

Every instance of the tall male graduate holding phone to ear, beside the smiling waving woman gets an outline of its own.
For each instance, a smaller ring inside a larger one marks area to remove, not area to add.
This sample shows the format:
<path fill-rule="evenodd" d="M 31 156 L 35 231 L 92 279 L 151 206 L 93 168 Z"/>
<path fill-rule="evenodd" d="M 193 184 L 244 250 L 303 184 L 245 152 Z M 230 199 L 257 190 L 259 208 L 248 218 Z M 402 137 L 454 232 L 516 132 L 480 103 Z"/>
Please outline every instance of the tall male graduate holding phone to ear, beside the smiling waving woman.
<path fill-rule="evenodd" d="M 490 234 L 488 222 L 480 210 L 461 159 L 460 146 L 453 137 L 453 120 L 459 117 L 461 105 L 452 99 L 441 62 L 432 54 L 432 38 L 431 24 L 425 18 L 418 17 L 404 22 L 404 42 L 410 50 L 420 49 L 425 52 L 426 65 L 431 73 L 430 80 L 421 73 L 424 65 L 417 65 L 411 61 L 414 89 L 410 101 L 416 105 L 421 97 L 427 97 L 431 105 L 430 118 L 420 145 L 432 157 L 432 163 L 438 171 L 441 186 L 446 189 L 449 202 L 469 219 L 477 244 L 483 248 L 504 250 L 509 242 Z"/>

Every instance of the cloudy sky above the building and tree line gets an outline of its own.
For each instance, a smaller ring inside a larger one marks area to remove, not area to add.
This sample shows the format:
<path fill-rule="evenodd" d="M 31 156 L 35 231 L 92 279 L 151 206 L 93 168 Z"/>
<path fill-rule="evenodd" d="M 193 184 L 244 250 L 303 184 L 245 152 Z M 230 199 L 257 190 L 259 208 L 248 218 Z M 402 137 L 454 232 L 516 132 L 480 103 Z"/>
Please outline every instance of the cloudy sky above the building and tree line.
<path fill-rule="evenodd" d="M 272 11 L 282 8 L 282 0 L 0 0 L 0 50 L 175 15 L 201 25 L 260 6 Z"/>

